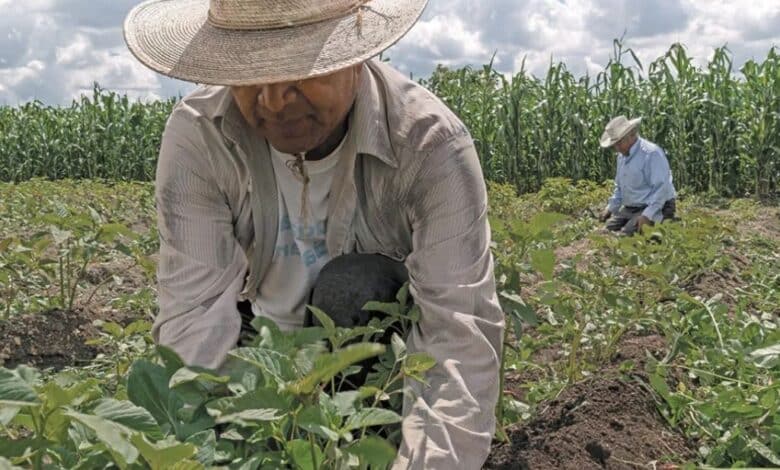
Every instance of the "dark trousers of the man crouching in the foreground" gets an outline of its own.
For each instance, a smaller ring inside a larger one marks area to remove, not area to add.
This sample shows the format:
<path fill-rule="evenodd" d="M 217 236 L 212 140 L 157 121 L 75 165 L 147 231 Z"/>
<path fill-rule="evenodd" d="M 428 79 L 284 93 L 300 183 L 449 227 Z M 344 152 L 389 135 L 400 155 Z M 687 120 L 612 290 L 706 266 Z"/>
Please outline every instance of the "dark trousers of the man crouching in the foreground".
<path fill-rule="evenodd" d="M 328 262 L 320 271 L 311 292 L 309 304 L 314 305 L 336 323 L 337 326 L 352 328 L 365 326 L 380 312 L 363 310 L 371 301 L 394 302 L 399 289 L 409 280 L 409 273 L 403 263 L 376 254 L 348 254 Z M 239 344 L 254 337 L 254 319 L 248 301 L 239 302 L 241 314 L 241 336 Z M 319 322 L 306 310 L 303 326 L 318 326 Z M 387 342 L 389 342 L 389 337 Z"/>

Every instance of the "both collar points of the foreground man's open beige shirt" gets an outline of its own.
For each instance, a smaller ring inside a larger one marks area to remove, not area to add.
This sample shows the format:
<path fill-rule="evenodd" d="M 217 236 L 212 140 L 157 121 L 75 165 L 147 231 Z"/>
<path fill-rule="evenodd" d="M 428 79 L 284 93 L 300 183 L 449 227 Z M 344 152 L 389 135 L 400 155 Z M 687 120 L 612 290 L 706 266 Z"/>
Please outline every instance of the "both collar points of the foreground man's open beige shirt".
<path fill-rule="evenodd" d="M 240 142 L 242 133 L 249 131 L 233 100 L 230 88 L 225 87 L 214 113 L 222 134 L 234 142 Z M 398 159 L 393 151 L 390 132 L 387 127 L 387 102 L 380 92 L 376 72 L 369 64 L 363 65 L 363 73 L 349 116 L 350 133 L 354 133 L 358 154 L 371 155 L 383 163 L 398 168 Z"/>

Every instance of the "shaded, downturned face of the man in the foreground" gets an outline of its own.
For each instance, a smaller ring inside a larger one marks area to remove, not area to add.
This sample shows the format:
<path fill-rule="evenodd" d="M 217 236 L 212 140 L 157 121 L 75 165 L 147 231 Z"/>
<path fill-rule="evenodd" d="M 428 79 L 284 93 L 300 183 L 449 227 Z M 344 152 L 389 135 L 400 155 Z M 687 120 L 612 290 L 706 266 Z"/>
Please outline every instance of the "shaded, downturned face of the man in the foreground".
<path fill-rule="evenodd" d="M 344 122 L 363 64 L 296 82 L 231 87 L 244 119 L 284 153 L 316 149 Z"/>

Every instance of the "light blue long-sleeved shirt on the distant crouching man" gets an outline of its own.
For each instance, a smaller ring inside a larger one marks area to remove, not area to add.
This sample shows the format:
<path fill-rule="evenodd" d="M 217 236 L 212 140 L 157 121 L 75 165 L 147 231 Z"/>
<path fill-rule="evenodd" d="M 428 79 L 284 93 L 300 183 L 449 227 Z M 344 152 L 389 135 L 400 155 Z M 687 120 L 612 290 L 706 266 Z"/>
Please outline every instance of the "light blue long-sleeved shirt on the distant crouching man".
<path fill-rule="evenodd" d="M 669 161 L 661 147 L 640 137 L 628 156 L 618 153 L 615 191 L 607 206 L 610 212 L 616 213 L 621 206 L 647 206 L 642 215 L 660 222 L 664 203 L 676 196 Z"/>

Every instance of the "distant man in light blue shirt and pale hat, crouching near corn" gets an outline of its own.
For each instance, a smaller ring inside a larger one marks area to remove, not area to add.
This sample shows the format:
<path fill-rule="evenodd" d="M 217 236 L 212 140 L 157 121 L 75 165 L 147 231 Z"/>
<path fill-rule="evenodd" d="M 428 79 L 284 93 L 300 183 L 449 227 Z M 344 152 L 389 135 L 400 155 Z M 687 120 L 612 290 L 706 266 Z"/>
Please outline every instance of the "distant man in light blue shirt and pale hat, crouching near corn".
<path fill-rule="evenodd" d="M 674 218 L 676 192 L 669 161 L 661 147 L 639 136 L 642 118 L 612 119 L 601 136 L 601 147 L 617 152 L 615 190 L 601 221 L 624 235 Z"/>

